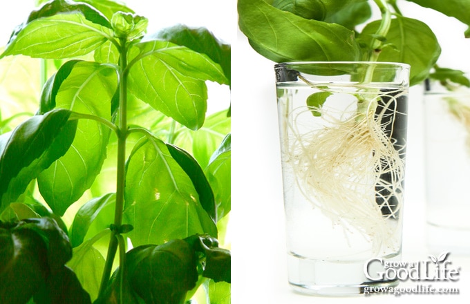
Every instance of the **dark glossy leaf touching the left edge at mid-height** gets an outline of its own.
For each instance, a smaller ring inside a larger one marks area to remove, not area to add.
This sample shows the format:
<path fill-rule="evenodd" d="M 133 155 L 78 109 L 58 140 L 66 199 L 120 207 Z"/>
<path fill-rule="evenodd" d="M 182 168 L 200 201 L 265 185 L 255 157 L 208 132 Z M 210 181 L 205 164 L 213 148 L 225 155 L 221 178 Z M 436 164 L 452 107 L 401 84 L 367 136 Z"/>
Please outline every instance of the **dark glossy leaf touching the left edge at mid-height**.
<path fill-rule="evenodd" d="M 77 128 L 66 110 L 31 117 L 0 135 L 0 212 L 26 190 L 39 173 L 66 153 Z"/>

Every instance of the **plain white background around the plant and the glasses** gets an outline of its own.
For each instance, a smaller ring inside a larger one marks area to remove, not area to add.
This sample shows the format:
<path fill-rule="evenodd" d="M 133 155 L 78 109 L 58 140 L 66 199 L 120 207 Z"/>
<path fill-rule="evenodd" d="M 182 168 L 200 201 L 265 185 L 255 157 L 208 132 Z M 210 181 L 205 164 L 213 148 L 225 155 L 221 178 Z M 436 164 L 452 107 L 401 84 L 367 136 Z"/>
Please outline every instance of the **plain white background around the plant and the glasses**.
<path fill-rule="evenodd" d="M 0 45 L 6 44 L 12 28 L 26 18 L 34 3 L 30 0 L 8 2 L 12 4 L 0 5 Z M 229 231 L 233 257 L 232 303 L 343 303 L 344 298 L 295 294 L 288 286 L 273 63 L 255 53 L 237 30 L 236 1 L 129 0 L 126 3 L 149 18 L 149 32 L 174 23 L 206 26 L 232 44 L 233 199 Z M 470 70 L 470 41 L 462 38 L 465 26 L 413 3 L 399 0 L 399 5 L 408 17 L 426 21 L 434 30 L 442 46 L 442 66 Z M 425 246 L 421 86 L 411 89 L 409 101 L 403 251 L 404 260 L 415 261 L 427 260 L 431 254 Z M 448 260 L 462 267 L 460 281 L 449 286 L 460 288 L 458 296 L 370 296 L 347 301 L 412 303 L 435 299 L 468 303 L 469 258 L 451 255 Z"/>

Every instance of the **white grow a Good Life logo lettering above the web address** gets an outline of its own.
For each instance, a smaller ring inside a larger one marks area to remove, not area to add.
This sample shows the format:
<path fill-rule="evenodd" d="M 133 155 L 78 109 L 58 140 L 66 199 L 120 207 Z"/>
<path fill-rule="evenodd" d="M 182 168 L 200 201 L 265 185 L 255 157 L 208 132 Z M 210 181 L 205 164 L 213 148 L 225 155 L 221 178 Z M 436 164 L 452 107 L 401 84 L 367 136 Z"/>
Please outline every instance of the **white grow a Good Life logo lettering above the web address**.
<path fill-rule="evenodd" d="M 444 252 L 438 257 L 429 256 L 430 260 L 415 262 L 370 258 L 364 264 L 364 274 L 370 281 L 458 281 L 460 267 L 453 267 L 448 256 L 449 252 Z"/>

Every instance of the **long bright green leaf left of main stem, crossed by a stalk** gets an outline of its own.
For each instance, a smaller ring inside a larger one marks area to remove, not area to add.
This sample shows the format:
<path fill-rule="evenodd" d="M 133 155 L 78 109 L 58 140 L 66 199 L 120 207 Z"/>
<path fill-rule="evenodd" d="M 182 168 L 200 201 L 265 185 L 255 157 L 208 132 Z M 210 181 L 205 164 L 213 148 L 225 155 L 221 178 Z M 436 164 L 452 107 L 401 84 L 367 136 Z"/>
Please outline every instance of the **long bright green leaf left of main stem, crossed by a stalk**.
<path fill-rule="evenodd" d="M 57 108 L 111 120 L 111 99 L 117 86 L 113 68 L 80 61 L 60 84 L 55 103 Z M 109 134 L 100 122 L 79 120 L 71 149 L 39 175 L 39 191 L 55 213 L 62 216 L 91 187 L 106 158 Z"/>

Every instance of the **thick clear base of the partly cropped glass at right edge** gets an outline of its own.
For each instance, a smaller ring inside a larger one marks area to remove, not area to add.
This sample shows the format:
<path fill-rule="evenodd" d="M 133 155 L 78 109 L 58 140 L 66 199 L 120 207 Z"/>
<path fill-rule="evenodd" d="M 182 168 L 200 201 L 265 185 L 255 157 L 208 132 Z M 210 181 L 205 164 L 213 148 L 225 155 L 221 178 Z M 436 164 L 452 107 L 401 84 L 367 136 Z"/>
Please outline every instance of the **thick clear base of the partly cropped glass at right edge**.
<path fill-rule="evenodd" d="M 429 250 L 435 254 L 470 254 L 470 228 L 444 227 L 427 223 L 426 238 Z"/>

